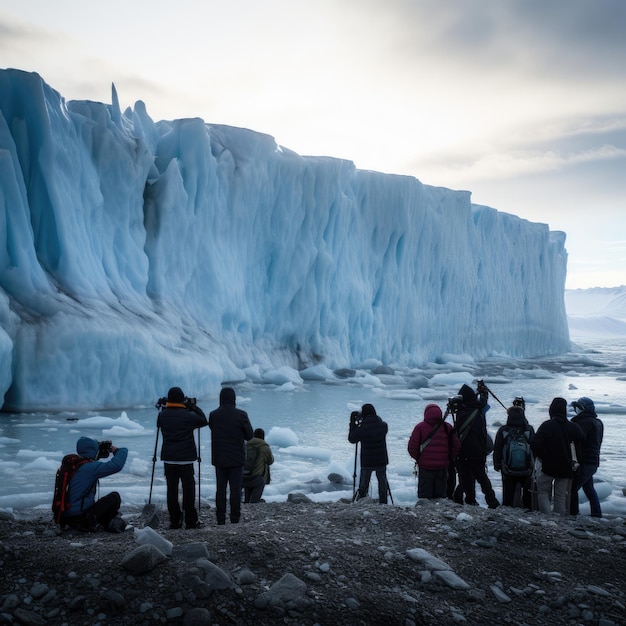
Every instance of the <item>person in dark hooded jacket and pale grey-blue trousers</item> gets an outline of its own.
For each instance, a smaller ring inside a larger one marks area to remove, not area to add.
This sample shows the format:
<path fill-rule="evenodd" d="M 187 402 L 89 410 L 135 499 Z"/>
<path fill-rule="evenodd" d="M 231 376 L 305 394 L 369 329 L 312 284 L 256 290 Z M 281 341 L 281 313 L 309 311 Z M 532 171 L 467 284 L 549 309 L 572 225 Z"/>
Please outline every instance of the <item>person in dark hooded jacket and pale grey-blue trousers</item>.
<path fill-rule="evenodd" d="M 539 426 L 531 448 L 541 461 L 537 474 L 537 503 L 542 513 L 565 515 L 567 494 L 574 475 L 571 444 L 580 447 L 583 431 L 567 419 L 567 401 L 554 398 L 548 410 L 550 419 Z M 577 457 L 580 454 L 577 450 Z M 552 501 L 552 506 L 550 502 Z"/>

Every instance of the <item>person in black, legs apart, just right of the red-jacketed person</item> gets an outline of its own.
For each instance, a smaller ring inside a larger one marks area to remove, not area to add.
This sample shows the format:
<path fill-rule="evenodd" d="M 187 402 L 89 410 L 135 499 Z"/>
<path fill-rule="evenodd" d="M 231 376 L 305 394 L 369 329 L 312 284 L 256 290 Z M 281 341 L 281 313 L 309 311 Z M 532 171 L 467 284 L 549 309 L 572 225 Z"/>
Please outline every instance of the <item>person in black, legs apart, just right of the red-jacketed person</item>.
<path fill-rule="evenodd" d="M 487 476 L 488 437 L 485 411 L 489 392 L 480 382 L 477 390 L 478 395 L 468 385 L 463 385 L 459 389 L 462 400 L 454 416 L 454 427 L 461 440 L 461 451 L 455 461 L 459 486 L 454 493 L 454 500 L 462 504 L 465 493 L 465 503 L 477 505 L 478 482 L 485 495 L 487 506 L 495 509 L 500 503 Z"/>

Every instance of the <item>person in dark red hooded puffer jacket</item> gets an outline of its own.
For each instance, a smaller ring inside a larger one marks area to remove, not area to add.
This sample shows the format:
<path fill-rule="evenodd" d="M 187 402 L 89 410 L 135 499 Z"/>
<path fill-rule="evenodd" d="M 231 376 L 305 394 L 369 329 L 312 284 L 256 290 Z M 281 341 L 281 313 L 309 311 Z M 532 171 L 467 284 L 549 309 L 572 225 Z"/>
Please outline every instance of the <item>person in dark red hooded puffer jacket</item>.
<path fill-rule="evenodd" d="M 409 439 L 408 451 L 419 468 L 417 497 L 445 498 L 448 467 L 461 450 L 461 442 L 452 424 L 445 421 L 441 409 L 429 404 L 424 421 L 417 424 Z"/>

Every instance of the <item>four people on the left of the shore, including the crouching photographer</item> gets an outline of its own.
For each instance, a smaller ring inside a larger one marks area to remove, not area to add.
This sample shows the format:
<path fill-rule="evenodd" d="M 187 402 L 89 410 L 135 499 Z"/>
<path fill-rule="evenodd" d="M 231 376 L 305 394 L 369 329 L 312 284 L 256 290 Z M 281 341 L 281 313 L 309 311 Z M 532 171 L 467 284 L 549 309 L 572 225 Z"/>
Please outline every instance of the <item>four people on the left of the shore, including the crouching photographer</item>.
<path fill-rule="evenodd" d="M 158 433 L 162 434 L 161 460 L 171 529 L 182 528 L 183 524 L 187 529 L 202 526 L 195 504 L 194 463 L 199 459 L 199 450 L 194 431 L 205 426 L 211 430 L 218 525 L 226 523 L 227 508 L 230 522 L 238 523 L 242 493 L 244 502 L 259 502 L 265 485 L 270 481 L 269 466 L 274 457 L 265 441 L 265 433 L 261 428 L 252 429 L 248 414 L 236 406 L 234 389 L 224 387 L 221 390 L 219 407 L 209 414 L 207 420 L 202 409 L 191 402 L 180 387 L 172 387 L 167 398 L 163 399 L 157 418 L 157 441 Z M 125 526 L 118 521 L 119 493 L 112 492 L 96 500 L 96 488 L 100 478 L 115 474 L 124 467 L 128 449 L 111 445 L 111 458 L 96 463 L 98 450 L 99 444 L 95 439 L 81 437 L 78 440 L 77 454 L 86 462 L 80 464 L 69 480 L 67 506 L 61 514 L 60 523 L 77 530 L 102 528 L 119 532 Z M 249 468 L 246 467 L 246 459 L 252 459 Z M 227 507 L 227 504 L 230 506 Z"/>

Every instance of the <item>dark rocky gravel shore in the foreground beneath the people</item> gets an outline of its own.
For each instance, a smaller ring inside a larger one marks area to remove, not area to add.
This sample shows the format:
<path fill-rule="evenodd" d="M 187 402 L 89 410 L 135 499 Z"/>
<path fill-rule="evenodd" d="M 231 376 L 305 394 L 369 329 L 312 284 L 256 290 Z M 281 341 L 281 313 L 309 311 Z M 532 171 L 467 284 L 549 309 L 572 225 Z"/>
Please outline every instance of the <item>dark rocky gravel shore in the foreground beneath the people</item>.
<path fill-rule="evenodd" d="M 122 514 L 121 534 L 0 514 L 0 624 L 626 624 L 623 518 L 299 494 L 195 530 Z"/>

